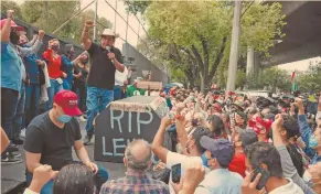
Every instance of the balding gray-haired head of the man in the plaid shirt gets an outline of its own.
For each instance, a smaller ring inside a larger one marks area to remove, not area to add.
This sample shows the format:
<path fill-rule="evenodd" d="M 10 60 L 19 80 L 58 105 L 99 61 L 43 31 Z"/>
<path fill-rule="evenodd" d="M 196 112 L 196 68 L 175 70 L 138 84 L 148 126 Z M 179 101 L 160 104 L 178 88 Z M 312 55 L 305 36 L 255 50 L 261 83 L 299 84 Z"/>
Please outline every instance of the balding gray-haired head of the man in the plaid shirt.
<path fill-rule="evenodd" d="M 151 163 L 151 147 L 142 140 L 133 140 L 125 150 L 128 168 L 135 171 L 146 171 Z"/>

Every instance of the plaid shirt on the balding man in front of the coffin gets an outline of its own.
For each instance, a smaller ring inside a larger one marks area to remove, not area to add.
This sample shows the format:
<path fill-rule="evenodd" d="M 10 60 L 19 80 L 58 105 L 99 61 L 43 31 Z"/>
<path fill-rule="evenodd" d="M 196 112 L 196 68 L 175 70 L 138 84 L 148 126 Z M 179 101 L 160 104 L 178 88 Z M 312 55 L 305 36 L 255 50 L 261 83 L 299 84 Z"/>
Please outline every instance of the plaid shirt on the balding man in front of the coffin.
<path fill-rule="evenodd" d="M 145 172 L 127 172 L 125 177 L 106 182 L 100 194 L 169 194 L 169 186 L 152 180 Z"/>

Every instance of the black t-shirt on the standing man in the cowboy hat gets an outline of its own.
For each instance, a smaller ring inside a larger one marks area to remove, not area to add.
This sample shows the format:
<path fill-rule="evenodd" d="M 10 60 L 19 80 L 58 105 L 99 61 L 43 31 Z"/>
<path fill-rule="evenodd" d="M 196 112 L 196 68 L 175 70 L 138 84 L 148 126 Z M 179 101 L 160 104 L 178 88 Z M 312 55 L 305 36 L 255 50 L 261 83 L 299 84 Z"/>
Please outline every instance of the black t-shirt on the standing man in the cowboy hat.
<path fill-rule="evenodd" d="M 88 76 L 88 86 L 113 90 L 116 67 L 107 55 L 108 51 L 100 45 L 92 43 L 92 46 L 87 52 L 89 53 L 92 64 Z M 121 52 L 117 47 L 113 46 L 110 52 L 115 54 L 115 57 L 119 63 L 124 63 Z"/>

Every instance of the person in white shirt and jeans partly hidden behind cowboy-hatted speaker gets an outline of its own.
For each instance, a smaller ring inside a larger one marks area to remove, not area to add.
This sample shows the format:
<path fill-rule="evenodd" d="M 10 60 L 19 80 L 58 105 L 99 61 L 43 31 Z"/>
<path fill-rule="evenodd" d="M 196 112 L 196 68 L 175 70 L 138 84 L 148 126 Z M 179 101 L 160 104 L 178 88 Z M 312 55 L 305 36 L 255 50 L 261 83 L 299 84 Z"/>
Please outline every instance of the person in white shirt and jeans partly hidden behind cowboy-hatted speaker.
<path fill-rule="evenodd" d="M 124 87 L 126 87 L 126 85 L 128 84 L 127 77 L 128 77 L 128 69 L 126 66 L 125 66 L 125 69 L 122 73 L 116 69 L 115 87 L 114 87 L 114 99 L 115 100 L 124 98 L 122 90 L 124 90 Z"/>

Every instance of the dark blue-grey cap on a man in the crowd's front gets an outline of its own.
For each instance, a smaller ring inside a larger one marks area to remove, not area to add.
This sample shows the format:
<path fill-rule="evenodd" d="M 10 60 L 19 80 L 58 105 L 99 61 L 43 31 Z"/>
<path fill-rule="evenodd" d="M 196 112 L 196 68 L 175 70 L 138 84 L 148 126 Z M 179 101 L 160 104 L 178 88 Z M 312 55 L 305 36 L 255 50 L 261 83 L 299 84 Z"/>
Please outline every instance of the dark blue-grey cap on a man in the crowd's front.
<path fill-rule="evenodd" d="M 232 162 L 235 150 L 228 140 L 203 136 L 200 142 L 204 149 L 211 151 L 212 158 L 215 158 L 221 165 L 228 166 Z"/>

